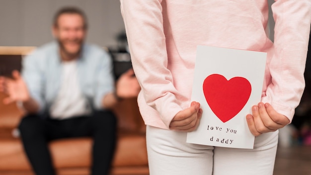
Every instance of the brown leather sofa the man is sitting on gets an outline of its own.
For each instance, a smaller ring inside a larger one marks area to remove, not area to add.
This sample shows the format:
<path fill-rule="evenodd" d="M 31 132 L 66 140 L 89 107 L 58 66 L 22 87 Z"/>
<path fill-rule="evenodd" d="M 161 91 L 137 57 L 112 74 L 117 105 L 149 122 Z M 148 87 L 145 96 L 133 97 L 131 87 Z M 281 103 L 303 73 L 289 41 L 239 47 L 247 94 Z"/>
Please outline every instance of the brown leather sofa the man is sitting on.
<path fill-rule="evenodd" d="M 20 69 L 22 55 L 32 47 L 0 47 L 0 75 Z M 34 175 L 16 130 L 24 112 L 17 104 L 4 105 L 0 93 L 0 175 Z M 114 107 L 117 116 L 117 147 L 111 175 L 148 175 L 146 126 L 136 98 L 123 99 Z M 52 161 L 58 175 L 89 175 L 91 138 L 60 139 L 50 142 Z"/>

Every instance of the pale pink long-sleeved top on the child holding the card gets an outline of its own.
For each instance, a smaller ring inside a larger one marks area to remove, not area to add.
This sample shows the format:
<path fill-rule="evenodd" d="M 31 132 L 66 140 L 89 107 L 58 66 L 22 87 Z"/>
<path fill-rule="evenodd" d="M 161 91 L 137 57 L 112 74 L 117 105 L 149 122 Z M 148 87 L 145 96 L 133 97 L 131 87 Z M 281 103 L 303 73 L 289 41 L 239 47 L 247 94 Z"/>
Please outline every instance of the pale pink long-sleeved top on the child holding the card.
<path fill-rule="evenodd" d="M 261 101 L 292 120 L 305 87 L 311 0 L 275 0 L 274 43 L 267 0 L 120 1 L 147 125 L 168 129 L 190 106 L 197 45 L 267 52 Z"/>

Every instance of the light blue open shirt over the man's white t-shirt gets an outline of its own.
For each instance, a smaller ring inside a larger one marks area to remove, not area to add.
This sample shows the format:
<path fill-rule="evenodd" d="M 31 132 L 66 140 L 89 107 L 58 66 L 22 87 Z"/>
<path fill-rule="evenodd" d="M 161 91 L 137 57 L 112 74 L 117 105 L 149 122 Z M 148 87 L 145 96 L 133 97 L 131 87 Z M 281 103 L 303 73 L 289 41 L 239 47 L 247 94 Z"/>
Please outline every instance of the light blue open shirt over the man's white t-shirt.
<path fill-rule="evenodd" d="M 84 44 L 77 62 L 80 89 L 94 109 L 102 108 L 102 98 L 114 91 L 112 61 L 102 48 Z M 49 110 L 61 86 L 62 61 L 56 41 L 43 45 L 22 61 L 22 77 L 40 112 Z"/>

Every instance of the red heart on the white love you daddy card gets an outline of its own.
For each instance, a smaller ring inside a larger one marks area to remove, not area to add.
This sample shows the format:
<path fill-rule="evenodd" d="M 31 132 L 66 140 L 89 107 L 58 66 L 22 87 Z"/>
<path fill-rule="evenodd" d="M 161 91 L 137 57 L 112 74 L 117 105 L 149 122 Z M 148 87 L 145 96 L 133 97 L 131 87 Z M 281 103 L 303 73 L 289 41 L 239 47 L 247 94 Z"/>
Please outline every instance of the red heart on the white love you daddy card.
<path fill-rule="evenodd" d="M 213 74 L 204 80 L 203 92 L 212 111 L 225 123 L 242 110 L 249 99 L 251 85 L 243 77 L 228 81 L 222 75 Z"/>

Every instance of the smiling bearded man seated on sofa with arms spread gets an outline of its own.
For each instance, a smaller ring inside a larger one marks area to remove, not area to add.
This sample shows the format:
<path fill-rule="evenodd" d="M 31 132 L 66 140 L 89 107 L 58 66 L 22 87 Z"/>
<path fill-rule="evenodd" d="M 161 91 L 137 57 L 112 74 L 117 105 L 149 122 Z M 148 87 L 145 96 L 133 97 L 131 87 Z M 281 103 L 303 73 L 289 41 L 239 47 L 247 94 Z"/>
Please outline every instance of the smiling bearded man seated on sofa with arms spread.
<path fill-rule="evenodd" d="M 56 41 L 23 60 L 22 76 L 0 77 L 4 103 L 20 101 L 27 115 L 19 130 L 36 175 L 55 175 L 48 142 L 68 137 L 94 139 L 92 175 L 106 175 L 115 147 L 115 116 L 109 111 L 119 98 L 137 96 L 132 70 L 116 82 L 109 55 L 84 44 L 87 21 L 73 7 L 60 9 L 52 26 Z"/>

